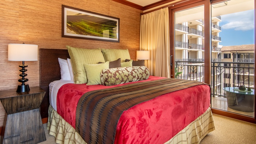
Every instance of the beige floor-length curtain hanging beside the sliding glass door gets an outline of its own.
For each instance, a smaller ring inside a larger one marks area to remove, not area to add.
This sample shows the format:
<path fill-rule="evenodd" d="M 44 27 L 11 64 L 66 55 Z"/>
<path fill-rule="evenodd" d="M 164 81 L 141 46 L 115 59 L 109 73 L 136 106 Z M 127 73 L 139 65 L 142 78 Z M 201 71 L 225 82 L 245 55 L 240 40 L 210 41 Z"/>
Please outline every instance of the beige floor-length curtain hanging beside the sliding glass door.
<path fill-rule="evenodd" d="M 150 75 L 170 77 L 169 10 L 163 8 L 142 15 L 140 21 L 140 50 L 149 50 L 145 60 Z"/>

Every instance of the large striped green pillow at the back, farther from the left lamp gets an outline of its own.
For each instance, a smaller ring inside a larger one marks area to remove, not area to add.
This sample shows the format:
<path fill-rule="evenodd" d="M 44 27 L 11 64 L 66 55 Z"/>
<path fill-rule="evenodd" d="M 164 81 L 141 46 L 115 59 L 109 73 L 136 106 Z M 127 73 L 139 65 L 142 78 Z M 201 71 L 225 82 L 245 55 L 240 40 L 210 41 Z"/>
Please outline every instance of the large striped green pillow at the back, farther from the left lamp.
<path fill-rule="evenodd" d="M 121 63 L 125 62 L 125 59 L 131 59 L 128 49 L 101 49 L 105 58 L 105 62 L 114 61 L 121 58 Z M 100 61 L 99 61 L 100 62 Z"/>

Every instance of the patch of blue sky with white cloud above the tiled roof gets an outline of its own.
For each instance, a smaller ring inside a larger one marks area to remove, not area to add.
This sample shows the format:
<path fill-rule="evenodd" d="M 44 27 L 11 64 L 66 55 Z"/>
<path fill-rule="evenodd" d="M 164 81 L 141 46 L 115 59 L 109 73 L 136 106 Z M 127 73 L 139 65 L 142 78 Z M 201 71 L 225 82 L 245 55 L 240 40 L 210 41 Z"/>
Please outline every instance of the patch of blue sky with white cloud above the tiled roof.
<path fill-rule="evenodd" d="M 220 45 L 254 44 L 254 10 L 221 15 Z"/>

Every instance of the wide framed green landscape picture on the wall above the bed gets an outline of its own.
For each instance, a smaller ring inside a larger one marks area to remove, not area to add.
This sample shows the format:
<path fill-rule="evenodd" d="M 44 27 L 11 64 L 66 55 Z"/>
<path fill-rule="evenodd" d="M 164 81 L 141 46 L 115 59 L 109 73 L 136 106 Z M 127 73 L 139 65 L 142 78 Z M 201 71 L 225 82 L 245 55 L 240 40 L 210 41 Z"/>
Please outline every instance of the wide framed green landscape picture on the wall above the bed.
<path fill-rule="evenodd" d="M 119 42 L 119 18 L 62 5 L 62 37 Z"/>

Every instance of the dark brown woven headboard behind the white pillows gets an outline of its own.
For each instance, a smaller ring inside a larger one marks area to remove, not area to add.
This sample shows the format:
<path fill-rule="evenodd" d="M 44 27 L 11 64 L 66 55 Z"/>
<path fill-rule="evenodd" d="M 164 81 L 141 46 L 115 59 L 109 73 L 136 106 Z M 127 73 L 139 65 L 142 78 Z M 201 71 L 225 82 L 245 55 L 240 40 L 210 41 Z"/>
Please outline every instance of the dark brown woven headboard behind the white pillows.
<path fill-rule="evenodd" d="M 40 87 L 46 91 L 41 103 L 41 117 L 48 117 L 49 108 L 49 84 L 60 80 L 60 67 L 58 58 L 70 58 L 67 49 L 39 49 L 39 79 Z"/>

